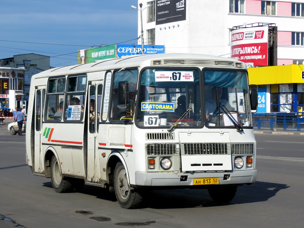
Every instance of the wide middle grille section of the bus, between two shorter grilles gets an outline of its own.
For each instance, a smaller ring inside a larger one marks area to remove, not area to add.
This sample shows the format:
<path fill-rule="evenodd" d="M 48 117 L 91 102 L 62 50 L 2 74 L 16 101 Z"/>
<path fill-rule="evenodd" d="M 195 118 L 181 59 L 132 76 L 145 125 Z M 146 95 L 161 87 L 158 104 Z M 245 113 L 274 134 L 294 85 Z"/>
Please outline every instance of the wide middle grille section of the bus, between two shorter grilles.
<path fill-rule="evenodd" d="M 230 154 L 228 143 L 182 143 L 181 153 L 190 154 Z"/>

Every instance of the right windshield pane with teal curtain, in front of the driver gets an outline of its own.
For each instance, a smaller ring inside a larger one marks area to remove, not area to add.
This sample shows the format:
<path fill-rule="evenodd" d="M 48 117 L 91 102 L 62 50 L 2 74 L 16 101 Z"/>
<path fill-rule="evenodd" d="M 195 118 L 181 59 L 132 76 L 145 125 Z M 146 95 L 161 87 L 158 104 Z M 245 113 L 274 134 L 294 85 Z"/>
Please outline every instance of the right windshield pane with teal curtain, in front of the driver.
<path fill-rule="evenodd" d="M 204 70 L 203 75 L 207 126 L 252 126 L 247 73 Z"/>

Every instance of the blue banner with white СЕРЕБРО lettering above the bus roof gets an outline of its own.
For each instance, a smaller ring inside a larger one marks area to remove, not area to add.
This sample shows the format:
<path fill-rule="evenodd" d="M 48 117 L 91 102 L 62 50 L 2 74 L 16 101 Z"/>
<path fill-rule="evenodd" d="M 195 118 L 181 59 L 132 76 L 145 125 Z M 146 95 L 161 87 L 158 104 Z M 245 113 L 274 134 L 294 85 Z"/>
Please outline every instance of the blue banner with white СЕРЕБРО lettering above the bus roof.
<path fill-rule="evenodd" d="M 120 58 L 122 56 L 127 55 L 140 55 L 142 54 L 142 46 L 141 45 L 123 45 L 117 44 L 117 52 L 116 57 Z M 164 54 L 165 47 L 164 45 L 144 45 L 144 54 Z"/>

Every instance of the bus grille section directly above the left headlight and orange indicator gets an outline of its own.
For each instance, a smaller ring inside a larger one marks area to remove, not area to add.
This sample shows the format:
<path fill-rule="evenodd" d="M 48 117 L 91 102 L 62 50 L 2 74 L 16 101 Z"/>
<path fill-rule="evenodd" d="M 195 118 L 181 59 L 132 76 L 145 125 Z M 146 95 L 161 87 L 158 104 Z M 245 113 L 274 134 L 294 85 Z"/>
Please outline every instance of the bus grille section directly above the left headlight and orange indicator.
<path fill-rule="evenodd" d="M 147 155 L 174 155 L 179 154 L 179 148 L 176 143 L 147 143 Z"/>

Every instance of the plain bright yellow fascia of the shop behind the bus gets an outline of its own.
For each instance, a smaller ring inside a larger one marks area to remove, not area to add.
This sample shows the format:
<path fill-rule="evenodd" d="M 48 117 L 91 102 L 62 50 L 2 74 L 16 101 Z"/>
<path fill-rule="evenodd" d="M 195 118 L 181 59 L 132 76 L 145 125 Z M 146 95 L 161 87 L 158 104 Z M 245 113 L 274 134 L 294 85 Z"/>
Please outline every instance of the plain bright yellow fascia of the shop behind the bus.
<path fill-rule="evenodd" d="M 249 85 L 304 83 L 304 65 L 282 65 L 248 68 Z"/>

